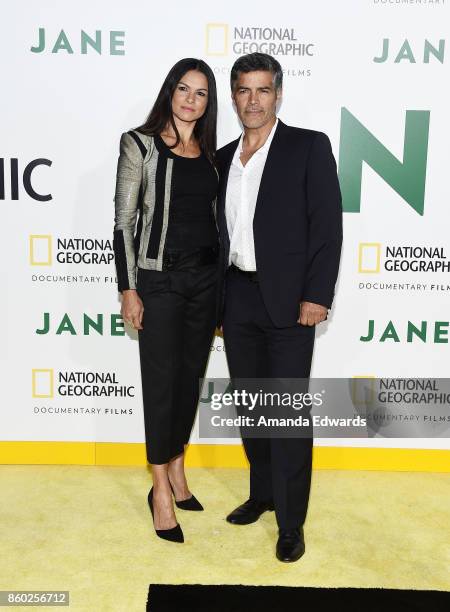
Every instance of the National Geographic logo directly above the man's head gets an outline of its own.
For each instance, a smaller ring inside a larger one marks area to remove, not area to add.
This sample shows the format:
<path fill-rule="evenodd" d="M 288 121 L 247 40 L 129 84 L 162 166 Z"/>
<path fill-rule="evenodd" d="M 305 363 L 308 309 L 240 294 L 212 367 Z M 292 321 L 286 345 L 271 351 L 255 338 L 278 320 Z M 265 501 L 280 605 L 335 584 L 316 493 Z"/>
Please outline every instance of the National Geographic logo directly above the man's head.
<path fill-rule="evenodd" d="M 273 56 L 304 57 L 314 55 L 314 43 L 299 38 L 294 28 L 206 24 L 206 55 L 226 56 L 268 53 Z"/>

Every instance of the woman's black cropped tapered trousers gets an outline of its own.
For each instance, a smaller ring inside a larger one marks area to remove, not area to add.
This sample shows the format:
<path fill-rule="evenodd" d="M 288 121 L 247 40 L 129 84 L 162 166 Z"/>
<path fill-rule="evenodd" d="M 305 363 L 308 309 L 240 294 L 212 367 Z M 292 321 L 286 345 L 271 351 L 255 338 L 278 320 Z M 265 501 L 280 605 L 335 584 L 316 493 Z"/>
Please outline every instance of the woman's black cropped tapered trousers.
<path fill-rule="evenodd" d="M 139 357 L 147 460 L 168 463 L 184 450 L 195 420 L 215 330 L 217 265 L 138 269 L 144 304 Z"/>

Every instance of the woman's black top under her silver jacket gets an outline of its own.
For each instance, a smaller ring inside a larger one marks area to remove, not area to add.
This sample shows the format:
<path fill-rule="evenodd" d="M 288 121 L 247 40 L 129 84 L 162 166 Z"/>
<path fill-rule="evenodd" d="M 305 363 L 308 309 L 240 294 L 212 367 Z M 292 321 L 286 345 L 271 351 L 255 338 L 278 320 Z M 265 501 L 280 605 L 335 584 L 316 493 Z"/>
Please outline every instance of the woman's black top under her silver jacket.
<path fill-rule="evenodd" d="M 218 245 L 213 201 L 217 195 L 217 173 L 204 153 L 198 157 L 176 155 L 161 136 L 155 136 L 160 154 L 174 160 L 169 222 L 165 248 L 191 250 Z"/>

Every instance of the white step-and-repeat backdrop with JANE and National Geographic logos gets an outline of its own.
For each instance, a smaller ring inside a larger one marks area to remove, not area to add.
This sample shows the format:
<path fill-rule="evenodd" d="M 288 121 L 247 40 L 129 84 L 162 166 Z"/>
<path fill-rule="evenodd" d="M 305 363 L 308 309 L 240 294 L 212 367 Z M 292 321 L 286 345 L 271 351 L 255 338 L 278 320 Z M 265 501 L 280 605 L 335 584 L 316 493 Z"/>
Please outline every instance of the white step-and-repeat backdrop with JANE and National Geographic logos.
<path fill-rule="evenodd" d="M 229 73 L 253 51 L 284 69 L 282 120 L 331 139 L 344 248 L 312 375 L 449 374 L 447 1 L 16 0 L 2 23 L 1 440 L 144 441 L 112 252 L 115 172 L 120 134 L 188 56 L 215 73 L 219 145 L 240 134 Z M 219 336 L 207 374 L 227 376 Z"/>

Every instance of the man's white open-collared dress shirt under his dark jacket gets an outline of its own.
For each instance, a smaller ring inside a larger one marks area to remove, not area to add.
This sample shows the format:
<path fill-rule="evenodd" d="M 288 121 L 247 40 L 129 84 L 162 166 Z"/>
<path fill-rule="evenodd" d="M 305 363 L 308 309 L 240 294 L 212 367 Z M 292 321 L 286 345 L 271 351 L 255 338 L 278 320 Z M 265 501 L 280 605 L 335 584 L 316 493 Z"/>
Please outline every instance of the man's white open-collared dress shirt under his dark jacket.
<path fill-rule="evenodd" d="M 262 173 L 277 125 L 278 119 L 266 142 L 253 153 L 245 166 L 240 159 L 244 140 L 242 133 L 230 166 L 225 200 L 225 216 L 230 237 L 228 263 L 233 263 L 241 270 L 256 270 L 253 217 Z"/>

